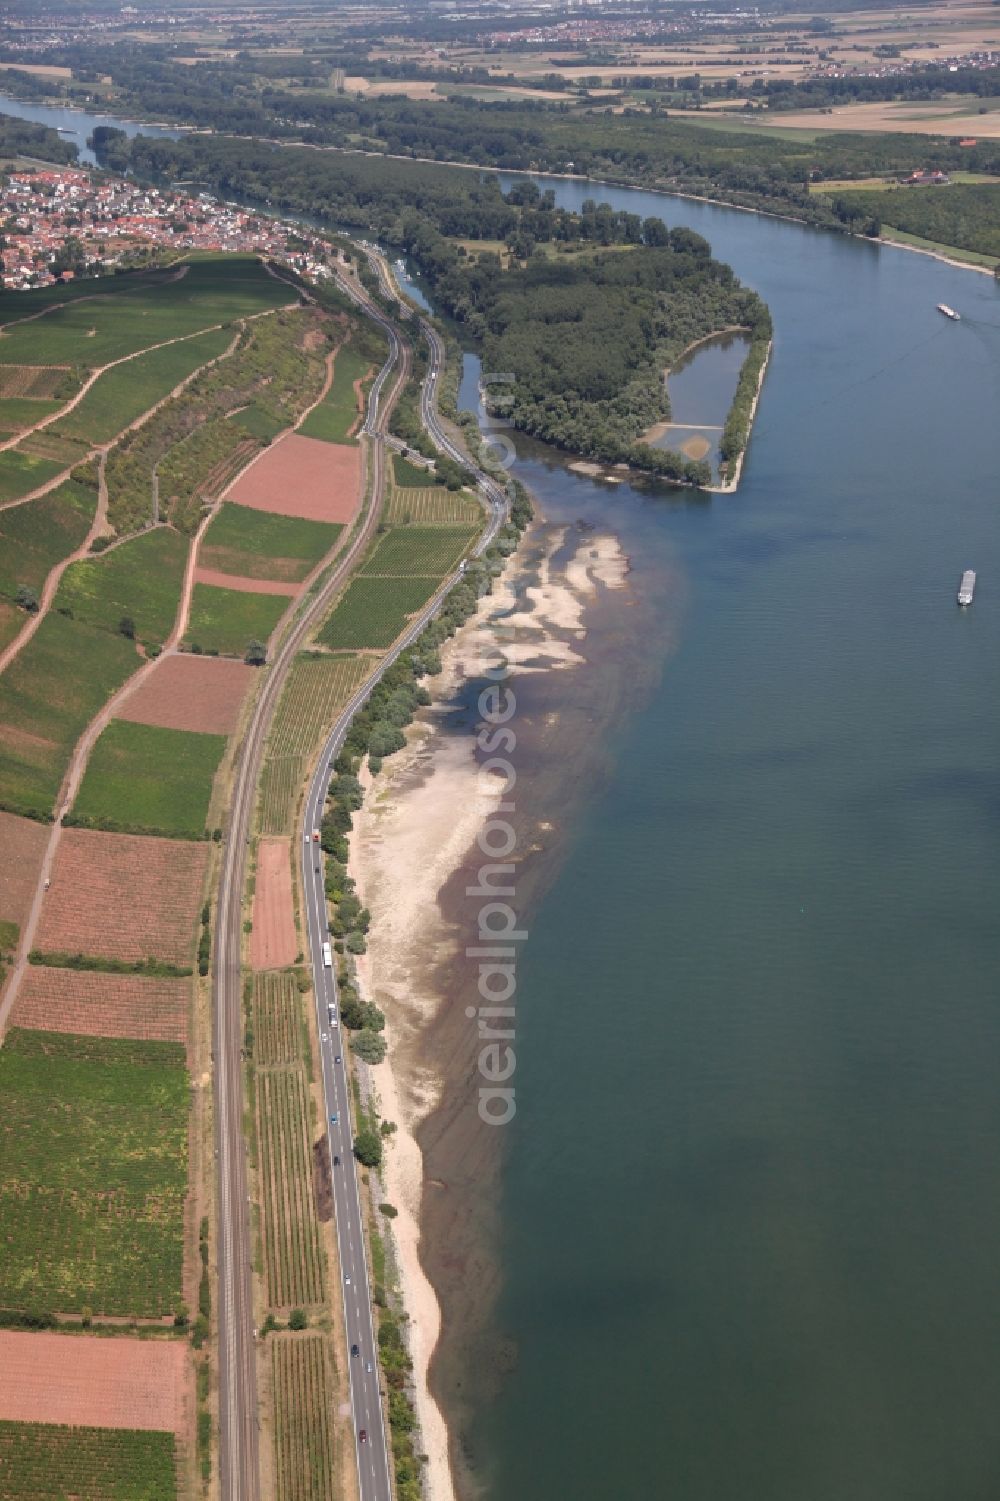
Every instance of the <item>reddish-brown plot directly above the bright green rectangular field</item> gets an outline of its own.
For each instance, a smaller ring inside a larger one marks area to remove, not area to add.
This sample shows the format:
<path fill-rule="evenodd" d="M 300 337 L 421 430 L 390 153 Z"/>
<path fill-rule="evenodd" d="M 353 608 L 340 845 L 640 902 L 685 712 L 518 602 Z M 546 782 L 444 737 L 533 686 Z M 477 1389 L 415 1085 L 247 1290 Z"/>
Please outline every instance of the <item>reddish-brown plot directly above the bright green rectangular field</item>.
<path fill-rule="evenodd" d="M 255 668 L 224 657 L 162 657 L 117 717 L 165 729 L 228 735 L 236 728 Z"/>

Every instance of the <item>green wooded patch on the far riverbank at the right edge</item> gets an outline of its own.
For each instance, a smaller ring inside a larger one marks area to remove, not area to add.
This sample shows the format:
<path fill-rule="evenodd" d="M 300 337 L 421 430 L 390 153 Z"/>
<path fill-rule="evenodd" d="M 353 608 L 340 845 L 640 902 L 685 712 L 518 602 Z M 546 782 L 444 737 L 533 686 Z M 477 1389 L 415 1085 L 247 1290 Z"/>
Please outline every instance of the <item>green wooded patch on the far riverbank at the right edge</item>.
<path fill-rule="evenodd" d="M 1000 257 L 1000 185 L 952 183 L 950 188 L 890 188 L 886 192 L 839 192 L 835 212 L 919 234 L 938 245 Z"/>

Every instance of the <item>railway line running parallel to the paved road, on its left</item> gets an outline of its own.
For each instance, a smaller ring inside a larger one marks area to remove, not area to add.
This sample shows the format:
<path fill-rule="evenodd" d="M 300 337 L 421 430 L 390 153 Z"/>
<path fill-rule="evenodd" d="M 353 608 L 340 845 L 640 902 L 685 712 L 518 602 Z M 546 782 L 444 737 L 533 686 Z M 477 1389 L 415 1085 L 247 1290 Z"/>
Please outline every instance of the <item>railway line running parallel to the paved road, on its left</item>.
<path fill-rule="evenodd" d="M 344 287 L 350 294 L 350 287 Z M 362 300 L 363 299 L 356 299 Z M 368 309 L 366 309 L 368 311 Z M 213 956 L 215 1150 L 218 1157 L 218 1319 L 219 1319 L 219 1480 L 224 1501 L 258 1501 L 257 1355 L 252 1285 L 252 1220 L 249 1213 L 242 1078 L 242 932 L 246 848 L 264 741 L 296 653 L 342 587 L 377 525 L 384 488 L 386 450 L 381 440 L 410 371 L 410 350 L 392 324 L 377 314 L 389 339 L 389 356 L 369 393 L 362 446 L 365 486 L 371 503 L 348 549 L 278 647 L 254 707 L 234 770 L 230 827 L 222 853 Z M 393 377 L 395 372 L 395 377 Z M 392 387 L 386 395 L 386 384 Z M 383 395 L 386 396 L 383 402 Z M 365 491 L 362 491 L 365 492 Z"/>

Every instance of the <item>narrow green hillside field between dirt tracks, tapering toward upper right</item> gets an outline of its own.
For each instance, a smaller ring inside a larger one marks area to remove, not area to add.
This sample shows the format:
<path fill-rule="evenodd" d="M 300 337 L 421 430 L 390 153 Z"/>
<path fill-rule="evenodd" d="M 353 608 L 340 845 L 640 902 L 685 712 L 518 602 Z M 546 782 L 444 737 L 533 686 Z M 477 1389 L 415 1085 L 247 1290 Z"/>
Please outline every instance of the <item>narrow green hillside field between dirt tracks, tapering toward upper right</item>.
<path fill-rule="evenodd" d="M 168 396 L 198 366 L 221 354 L 231 341 L 231 329 L 212 329 L 183 344 L 168 344 L 126 365 L 116 365 L 54 428 L 69 437 L 107 443 Z"/>

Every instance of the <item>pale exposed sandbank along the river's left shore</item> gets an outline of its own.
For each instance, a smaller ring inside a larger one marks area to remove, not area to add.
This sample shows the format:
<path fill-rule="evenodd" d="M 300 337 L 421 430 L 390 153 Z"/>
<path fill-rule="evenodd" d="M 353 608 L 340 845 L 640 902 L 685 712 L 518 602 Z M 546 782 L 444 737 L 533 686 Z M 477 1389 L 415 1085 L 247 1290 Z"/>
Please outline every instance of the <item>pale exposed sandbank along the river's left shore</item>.
<path fill-rule="evenodd" d="M 535 537 L 533 540 L 538 540 Z M 559 554 L 559 558 L 557 558 Z M 532 578 L 529 581 L 527 573 Z M 628 560 L 616 537 L 553 528 L 541 560 L 515 560 L 477 614 L 444 648 L 438 702 L 482 672 L 497 653 L 515 674 L 566 671 L 583 663 L 574 641 L 586 635 L 583 614 L 602 588 L 620 588 Z M 350 868 L 371 910 L 368 953 L 357 965 L 363 994 L 386 1013 L 389 1055 L 369 1070 L 383 1120 L 393 1121 L 381 1172 L 386 1199 L 398 1214 L 390 1235 L 399 1285 L 410 1315 L 410 1354 L 420 1450 L 428 1456 L 429 1501 L 453 1501 L 449 1432 L 428 1390 L 428 1367 L 440 1337 L 441 1312 L 420 1259 L 425 1189 L 419 1124 L 440 1103 L 449 1081 L 417 1061 L 422 1034 L 441 1003 L 432 974 L 459 949 L 438 893 L 476 842 L 498 790 L 479 773 L 473 734 L 447 732 L 440 707 L 423 710 L 405 750 L 386 763 L 354 817 Z"/>

